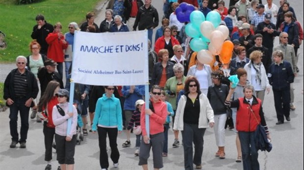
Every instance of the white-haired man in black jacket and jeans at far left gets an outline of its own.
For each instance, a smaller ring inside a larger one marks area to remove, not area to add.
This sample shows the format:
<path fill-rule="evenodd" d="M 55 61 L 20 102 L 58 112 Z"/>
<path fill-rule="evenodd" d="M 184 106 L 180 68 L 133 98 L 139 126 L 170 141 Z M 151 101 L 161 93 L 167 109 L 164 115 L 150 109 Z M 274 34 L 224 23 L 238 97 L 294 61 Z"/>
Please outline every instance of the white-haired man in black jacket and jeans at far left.
<path fill-rule="evenodd" d="M 25 69 L 26 58 L 18 56 L 16 59 L 17 68 L 13 69 L 6 77 L 4 82 L 4 95 L 6 106 L 9 106 L 9 128 L 12 136 L 10 148 L 16 148 L 20 143 L 20 148 L 26 148 L 28 131 L 28 115 L 32 101 L 39 92 L 35 75 Z M 17 130 L 18 112 L 20 112 L 21 129 L 20 139 Z"/>

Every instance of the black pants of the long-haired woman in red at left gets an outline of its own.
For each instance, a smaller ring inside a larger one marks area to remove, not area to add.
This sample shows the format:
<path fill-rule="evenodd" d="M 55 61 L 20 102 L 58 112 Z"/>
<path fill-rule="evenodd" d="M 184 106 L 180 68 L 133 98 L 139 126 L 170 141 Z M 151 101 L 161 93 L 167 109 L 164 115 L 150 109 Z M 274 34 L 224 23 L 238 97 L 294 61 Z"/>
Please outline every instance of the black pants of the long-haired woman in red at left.
<path fill-rule="evenodd" d="M 46 148 L 45 152 L 45 161 L 51 161 L 52 159 L 52 144 L 55 135 L 55 128 L 47 127 L 47 122 L 43 124 L 43 134 L 44 134 L 44 147 Z"/>

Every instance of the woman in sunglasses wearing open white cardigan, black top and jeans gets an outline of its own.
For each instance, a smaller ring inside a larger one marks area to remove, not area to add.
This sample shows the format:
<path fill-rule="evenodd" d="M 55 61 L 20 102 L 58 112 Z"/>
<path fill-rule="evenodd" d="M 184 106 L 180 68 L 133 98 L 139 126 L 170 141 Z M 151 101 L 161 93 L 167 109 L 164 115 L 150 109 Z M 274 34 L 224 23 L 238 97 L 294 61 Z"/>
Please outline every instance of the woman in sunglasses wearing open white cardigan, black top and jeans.
<path fill-rule="evenodd" d="M 195 77 L 188 78 L 184 90 L 185 94 L 178 101 L 173 129 L 182 134 L 185 170 L 193 170 L 193 164 L 196 169 L 202 169 L 203 135 L 208 125 L 214 125 L 213 110 Z"/>

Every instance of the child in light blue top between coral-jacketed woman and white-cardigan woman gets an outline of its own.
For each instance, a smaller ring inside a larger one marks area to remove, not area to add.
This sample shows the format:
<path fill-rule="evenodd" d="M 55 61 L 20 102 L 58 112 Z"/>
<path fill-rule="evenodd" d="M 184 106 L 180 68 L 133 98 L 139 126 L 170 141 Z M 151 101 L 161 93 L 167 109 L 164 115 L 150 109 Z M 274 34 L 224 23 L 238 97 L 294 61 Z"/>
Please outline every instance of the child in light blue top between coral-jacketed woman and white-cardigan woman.
<path fill-rule="evenodd" d="M 170 121 L 170 116 L 174 116 L 174 111 L 172 108 L 172 105 L 169 102 L 166 102 L 166 92 L 164 90 L 161 90 L 161 94 L 160 94 L 160 100 L 165 102 L 167 104 L 167 112 L 168 112 L 168 116 L 166 119 L 166 122 L 164 124 L 164 147 L 163 147 L 163 157 L 167 157 L 168 156 L 168 130 L 170 128 L 169 123 Z"/>

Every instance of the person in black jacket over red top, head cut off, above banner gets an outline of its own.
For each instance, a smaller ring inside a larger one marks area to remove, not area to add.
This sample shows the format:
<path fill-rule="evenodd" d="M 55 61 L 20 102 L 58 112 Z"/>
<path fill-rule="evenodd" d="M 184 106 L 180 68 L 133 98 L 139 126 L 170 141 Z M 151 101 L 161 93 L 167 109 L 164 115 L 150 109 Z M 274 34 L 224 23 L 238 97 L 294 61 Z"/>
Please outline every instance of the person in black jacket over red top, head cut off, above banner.
<path fill-rule="evenodd" d="M 124 21 L 127 22 L 129 30 L 133 29 L 133 25 L 137 16 L 137 12 L 144 3 L 142 0 L 125 0 Z"/>

